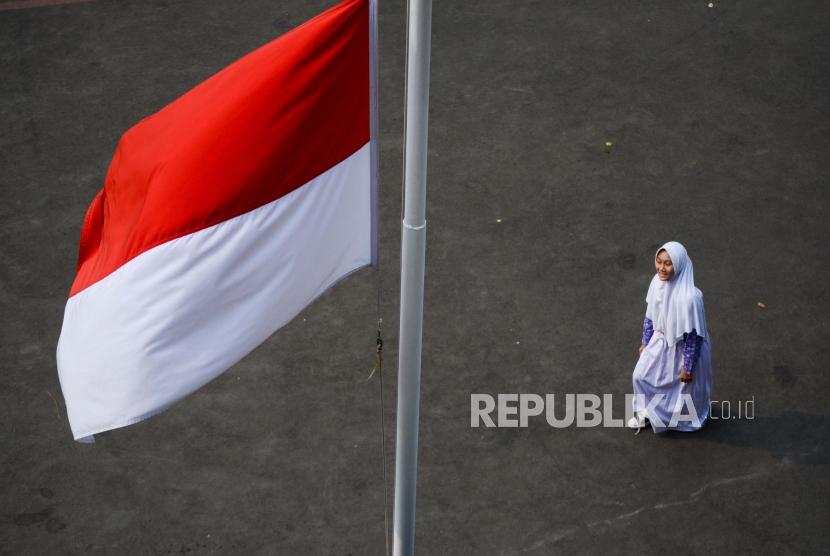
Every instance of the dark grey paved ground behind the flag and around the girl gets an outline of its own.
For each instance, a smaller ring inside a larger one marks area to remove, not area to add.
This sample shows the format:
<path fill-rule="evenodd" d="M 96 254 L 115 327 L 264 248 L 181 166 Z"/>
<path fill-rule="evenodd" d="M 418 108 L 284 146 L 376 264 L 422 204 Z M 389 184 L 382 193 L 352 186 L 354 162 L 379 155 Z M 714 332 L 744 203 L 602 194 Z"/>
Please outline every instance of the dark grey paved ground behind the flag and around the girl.
<path fill-rule="evenodd" d="M 0 12 L 0 552 L 383 552 L 375 272 L 94 446 L 54 362 L 120 134 L 331 4 Z M 390 472 L 404 6 L 380 15 Z M 827 551 L 828 21 L 821 1 L 435 3 L 420 553 Z M 754 419 L 470 428 L 472 392 L 628 392 L 669 239 L 705 294 L 714 397 Z"/>

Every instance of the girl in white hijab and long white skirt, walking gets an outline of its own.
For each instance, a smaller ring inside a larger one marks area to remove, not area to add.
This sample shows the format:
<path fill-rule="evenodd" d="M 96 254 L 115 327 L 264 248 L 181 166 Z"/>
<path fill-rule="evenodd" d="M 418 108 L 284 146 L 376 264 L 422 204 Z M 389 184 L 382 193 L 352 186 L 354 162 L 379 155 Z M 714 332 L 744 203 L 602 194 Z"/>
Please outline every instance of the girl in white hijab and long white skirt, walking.
<path fill-rule="evenodd" d="M 634 417 L 654 432 L 693 431 L 709 416 L 711 340 L 703 294 L 695 287 L 686 248 L 670 241 L 654 257 L 657 273 L 646 295 L 640 359 L 634 367 Z"/>

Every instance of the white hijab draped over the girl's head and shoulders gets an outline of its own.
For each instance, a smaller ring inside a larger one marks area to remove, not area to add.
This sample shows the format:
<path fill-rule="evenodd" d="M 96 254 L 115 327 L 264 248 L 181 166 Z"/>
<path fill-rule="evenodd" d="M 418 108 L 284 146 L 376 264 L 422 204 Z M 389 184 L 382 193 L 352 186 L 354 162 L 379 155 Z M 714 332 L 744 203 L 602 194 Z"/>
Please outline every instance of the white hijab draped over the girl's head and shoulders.
<path fill-rule="evenodd" d="M 646 317 L 654 323 L 655 331 L 662 331 L 669 344 L 683 339 L 692 330 L 698 336 L 709 338 L 706 314 L 703 312 L 703 294 L 695 287 L 692 260 L 686 248 L 676 241 L 663 245 L 654 254 L 666 250 L 674 266 L 674 275 L 668 281 L 655 274 L 646 294 Z"/>

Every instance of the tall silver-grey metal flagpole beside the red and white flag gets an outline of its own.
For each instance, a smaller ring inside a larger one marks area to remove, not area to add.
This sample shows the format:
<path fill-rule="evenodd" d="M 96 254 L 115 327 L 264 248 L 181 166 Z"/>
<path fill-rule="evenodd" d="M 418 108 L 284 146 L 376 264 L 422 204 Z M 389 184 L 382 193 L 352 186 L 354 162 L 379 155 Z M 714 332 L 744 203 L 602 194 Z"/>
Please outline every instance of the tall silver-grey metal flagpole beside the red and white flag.
<path fill-rule="evenodd" d="M 426 252 L 427 122 L 432 0 L 409 0 L 406 63 L 404 218 L 401 231 L 401 321 L 395 446 L 395 556 L 415 551 L 418 405 Z"/>

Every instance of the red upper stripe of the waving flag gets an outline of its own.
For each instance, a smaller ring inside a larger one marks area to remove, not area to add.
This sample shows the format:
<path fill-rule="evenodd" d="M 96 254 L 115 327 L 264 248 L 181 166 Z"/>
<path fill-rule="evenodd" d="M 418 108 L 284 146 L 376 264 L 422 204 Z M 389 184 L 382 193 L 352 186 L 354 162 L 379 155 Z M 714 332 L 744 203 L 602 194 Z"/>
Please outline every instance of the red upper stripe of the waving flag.
<path fill-rule="evenodd" d="M 152 247 L 290 193 L 365 145 L 368 9 L 338 4 L 128 130 L 84 219 L 70 296 Z"/>

